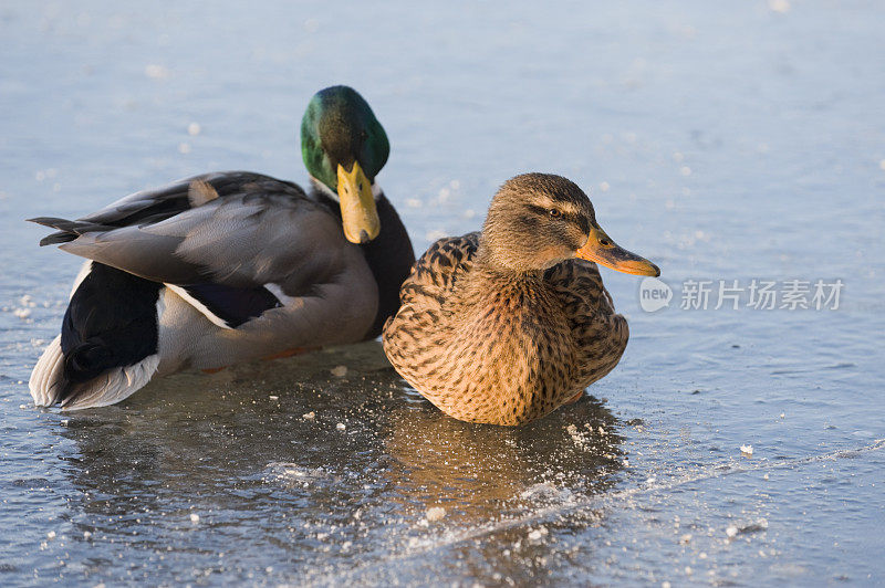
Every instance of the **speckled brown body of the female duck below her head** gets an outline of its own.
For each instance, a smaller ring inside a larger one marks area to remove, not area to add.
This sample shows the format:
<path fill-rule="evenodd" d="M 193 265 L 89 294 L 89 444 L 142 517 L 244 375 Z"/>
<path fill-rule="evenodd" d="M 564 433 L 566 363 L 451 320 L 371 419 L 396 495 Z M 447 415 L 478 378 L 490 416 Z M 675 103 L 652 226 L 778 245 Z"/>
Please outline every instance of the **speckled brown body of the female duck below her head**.
<path fill-rule="evenodd" d="M 475 263 L 479 233 L 437 241 L 384 328 L 396 370 L 457 419 L 521 424 L 608 374 L 627 344 L 596 265 L 502 277 Z"/>

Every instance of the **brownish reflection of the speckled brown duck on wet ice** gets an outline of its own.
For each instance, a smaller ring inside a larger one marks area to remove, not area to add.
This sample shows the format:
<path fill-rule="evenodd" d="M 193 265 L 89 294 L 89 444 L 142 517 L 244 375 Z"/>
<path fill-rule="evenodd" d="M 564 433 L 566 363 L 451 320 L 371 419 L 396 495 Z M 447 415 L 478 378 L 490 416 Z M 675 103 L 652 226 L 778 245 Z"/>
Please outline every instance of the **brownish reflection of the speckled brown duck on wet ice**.
<path fill-rule="evenodd" d="M 569 432 L 574 423 L 596 431 L 614 429 L 617 421 L 591 399 L 520 428 L 466 423 L 431 407 L 403 408 L 392 414 L 384 439 L 395 460 L 386 475 L 405 511 L 440 503 L 467 524 L 519 513 L 558 491 L 600 492 L 620 468 L 622 438 L 596 433 L 594 442 L 577 447 Z M 527 491 L 542 487 L 555 491 Z"/>

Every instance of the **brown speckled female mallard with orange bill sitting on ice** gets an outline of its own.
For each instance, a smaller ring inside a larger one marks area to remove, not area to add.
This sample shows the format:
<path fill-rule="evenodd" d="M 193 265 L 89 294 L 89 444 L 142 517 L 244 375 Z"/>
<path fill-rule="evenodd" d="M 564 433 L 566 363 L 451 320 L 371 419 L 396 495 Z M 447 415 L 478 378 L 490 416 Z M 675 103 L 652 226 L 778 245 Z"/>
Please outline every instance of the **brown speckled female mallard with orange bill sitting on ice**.
<path fill-rule="evenodd" d="M 384 326 L 384 351 L 456 419 L 543 417 L 608 374 L 627 345 L 627 322 L 593 262 L 660 274 L 612 242 L 577 186 L 517 176 L 492 199 L 481 233 L 441 239 L 418 260 Z"/>

